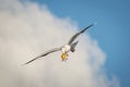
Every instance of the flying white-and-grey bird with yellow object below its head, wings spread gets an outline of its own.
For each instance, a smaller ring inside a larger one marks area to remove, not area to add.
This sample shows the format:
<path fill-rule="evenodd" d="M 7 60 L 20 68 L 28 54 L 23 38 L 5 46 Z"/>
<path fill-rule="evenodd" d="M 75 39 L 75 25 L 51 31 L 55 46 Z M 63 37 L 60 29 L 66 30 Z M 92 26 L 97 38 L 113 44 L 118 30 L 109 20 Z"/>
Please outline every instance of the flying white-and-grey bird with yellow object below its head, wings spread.
<path fill-rule="evenodd" d="M 50 54 L 50 53 L 52 53 L 52 52 L 56 52 L 56 51 L 62 51 L 62 55 L 61 55 L 62 61 L 66 61 L 66 60 L 67 60 L 67 57 L 68 57 L 68 52 L 69 52 L 69 51 L 75 52 L 75 48 L 76 48 L 76 46 L 77 46 L 77 44 L 78 44 L 78 41 L 75 41 L 75 39 L 76 39 L 80 34 L 84 33 L 88 28 L 92 27 L 93 25 L 94 25 L 94 24 L 91 24 L 91 25 L 89 25 L 88 27 L 83 28 L 82 30 L 76 33 L 76 34 L 69 39 L 69 41 L 68 41 L 66 45 L 64 45 L 64 46 L 62 46 L 62 47 L 60 47 L 60 48 L 54 48 L 54 49 L 48 50 L 48 51 L 43 52 L 42 54 L 36 57 L 35 59 L 26 62 L 25 64 L 29 64 L 29 63 L 34 62 L 35 60 L 37 60 L 37 59 L 39 59 L 39 58 L 46 57 L 46 55 L 48 55 L 48 54 Z M 75 42 L 74 42 L 74 41 L 75 41 Z"/>

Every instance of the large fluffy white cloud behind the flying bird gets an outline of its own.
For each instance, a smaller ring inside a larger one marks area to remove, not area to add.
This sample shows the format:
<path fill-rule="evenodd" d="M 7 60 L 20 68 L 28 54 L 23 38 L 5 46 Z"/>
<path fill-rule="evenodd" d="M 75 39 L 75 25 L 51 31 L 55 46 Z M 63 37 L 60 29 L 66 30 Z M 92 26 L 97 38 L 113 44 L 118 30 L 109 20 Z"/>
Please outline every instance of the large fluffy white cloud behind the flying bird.
<path fill-rule="evenodd" d="M 102 70 L 105 53 L 89 35 L 79 37 L 67 62 L 61 62 L 61 52 L 55 52 L 22 66 L 66 44 L 77 28 L 76 22 L 53 15 L 46 5 L 0 0 L 0 86 L 119 87 L 118 79 L 108 79 Z"/>

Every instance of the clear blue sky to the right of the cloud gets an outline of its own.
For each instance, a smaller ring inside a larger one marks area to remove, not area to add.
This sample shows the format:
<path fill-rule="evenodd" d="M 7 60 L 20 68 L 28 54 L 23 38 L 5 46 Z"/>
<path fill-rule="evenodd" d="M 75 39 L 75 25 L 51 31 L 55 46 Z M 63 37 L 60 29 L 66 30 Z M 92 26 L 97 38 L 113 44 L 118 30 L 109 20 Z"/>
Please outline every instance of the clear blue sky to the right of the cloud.
<path fill-rule="evenodd" d="M 79 29 L 96 22 L 90 36 L 106 53 L 105 72 L 118 77 L 121 87 L 130 78 L 130 1 L 129 0 L 34 0 L 46 4 L 58 17 L 77 22 Z"/>

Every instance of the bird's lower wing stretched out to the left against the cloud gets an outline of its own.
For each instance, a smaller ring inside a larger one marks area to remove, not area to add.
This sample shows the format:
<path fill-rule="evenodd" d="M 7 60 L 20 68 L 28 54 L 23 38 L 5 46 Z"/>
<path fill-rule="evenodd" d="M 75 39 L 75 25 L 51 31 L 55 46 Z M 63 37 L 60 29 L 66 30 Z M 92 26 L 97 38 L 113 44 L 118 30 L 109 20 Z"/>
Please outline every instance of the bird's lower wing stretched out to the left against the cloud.
<path fill-rule="evenodd" d="M 32 62 L 32 61 L 35 61 L 35 60 L 41 58 L 41 57 L 46 57 L 46 55 L 48 55 L 49 53 L 52 53 L 52 52 L 55 52 L 55 51 L 60 51 L 60 50 L 61 50 L 61 48 L 54 48 L 54 49 L 51 49 L 51 50 L 49 50 L 49 51 L 46 51 L 44 53 L 42 53 L 42 54 L 36 57 L 35 59 L 32 59 L 32 60 L 26 62 L 25 64 L 28 64 L 28 63 L 30 63 L 30 62 Z"/>

